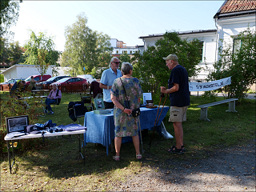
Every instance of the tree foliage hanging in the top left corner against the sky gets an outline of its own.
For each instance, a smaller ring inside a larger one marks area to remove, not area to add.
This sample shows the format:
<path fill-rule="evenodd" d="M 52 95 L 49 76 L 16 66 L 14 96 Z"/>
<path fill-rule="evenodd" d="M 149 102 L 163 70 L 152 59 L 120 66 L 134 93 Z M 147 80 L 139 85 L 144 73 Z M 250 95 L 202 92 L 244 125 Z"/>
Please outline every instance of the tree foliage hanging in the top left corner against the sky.
<path fill-rule="evenodd" d="M 18 2 L 10 0 L 0 1 L 0 54 L 2 54 L 4 48 L 4 37 L 8 39 L 8 36 L 12 34 L 9 30 L 10 26 L 14 25 L 18 20 L 18 11 Z"/>

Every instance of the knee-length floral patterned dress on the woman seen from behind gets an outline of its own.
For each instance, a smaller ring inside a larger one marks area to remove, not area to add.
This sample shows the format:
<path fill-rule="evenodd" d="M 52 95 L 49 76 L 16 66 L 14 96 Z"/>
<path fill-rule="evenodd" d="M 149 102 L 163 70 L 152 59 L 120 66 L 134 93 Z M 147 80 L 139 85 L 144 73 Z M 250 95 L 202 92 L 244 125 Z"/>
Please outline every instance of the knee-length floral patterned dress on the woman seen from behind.
<path fill-rule="evenodd" d="M 121 82 L 122 79 L 122 82 Z M 113 94 L 118 102 L 128 109 L 134 110 L 140 106 L 138 98 L 142 96 L 142 87 L 138 82 L 138 78 L 117 78 L 112 86 L 111 94 Z M 123 89 L 123 86 L 126 92 Z M 126 100 L 129 100 L 129 103 Z M 130 104 L 130 106 L 129 106 Z M 115 137 L 127 137 L 138 135 L 138 117 L 134 118 L 128 115 L 117 106 L 114 106 L 114 134 Z"/>

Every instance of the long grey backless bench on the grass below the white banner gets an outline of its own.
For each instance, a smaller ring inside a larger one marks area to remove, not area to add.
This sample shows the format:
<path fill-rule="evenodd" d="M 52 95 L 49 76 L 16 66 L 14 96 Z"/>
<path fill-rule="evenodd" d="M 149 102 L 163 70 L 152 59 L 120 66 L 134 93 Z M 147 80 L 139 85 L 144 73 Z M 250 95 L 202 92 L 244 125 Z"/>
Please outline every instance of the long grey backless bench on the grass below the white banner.
<path fill-rule="evenodd" d="M 201 105 L 201 106 L 197 106 L 198 108 L 201 108 L 201 114 L 200 114 L 199 119 L 202 119 L 202 120 L 205 120 L 205 121 L 210 121 L 207 118 L 207 108 L 209 106 L 217 106 L 219 104 L 226 103 L 226 102 L 229 102 L 229 109 L 226 110 L 226 112 L 238 112 L 238 111 L 235 110 L 235 101 L 236 100 L 238 100 L 238 98 L 228 98 L 228 99 L 224 99 L 224 100 L 219 101 L 219 102 L 210 102 L 210 103 L 207 103 L 207 104 L 204 104 L 204 105 Z"/>

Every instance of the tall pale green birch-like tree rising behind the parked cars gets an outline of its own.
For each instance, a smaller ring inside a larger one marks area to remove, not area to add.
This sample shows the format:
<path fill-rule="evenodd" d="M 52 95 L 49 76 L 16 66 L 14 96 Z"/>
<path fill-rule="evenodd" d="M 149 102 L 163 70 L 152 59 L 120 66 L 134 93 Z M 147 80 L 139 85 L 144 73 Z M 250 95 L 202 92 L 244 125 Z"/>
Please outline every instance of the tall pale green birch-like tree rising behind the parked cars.
<path fill-rule="evenodd" d="M 70 66 L 70 74 L 101 74 L 110 62 L 110 37 L 93 31 L 87 26 L 84 13 L 78 14 L 77 22 L 66 26 L 65 50 L 62 54 L 61 66 Z"/>

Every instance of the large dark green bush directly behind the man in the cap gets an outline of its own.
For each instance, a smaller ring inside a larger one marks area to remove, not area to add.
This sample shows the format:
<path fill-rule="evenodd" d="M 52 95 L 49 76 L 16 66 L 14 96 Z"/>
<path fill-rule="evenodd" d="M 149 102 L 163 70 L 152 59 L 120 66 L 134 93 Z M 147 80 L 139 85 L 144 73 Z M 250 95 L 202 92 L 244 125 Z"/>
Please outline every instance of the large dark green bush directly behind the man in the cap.
<path fill-rule="evenodd" d="M 180 38 L 177 32 L 166 32 L 163 38 L 155 43 L 155 46 L 148 47 L 142 54 L 134 54 L 134 77 L 142 82 L 144 92 L 153 93 L 153 98 L 160 95 L 160 86 L 167 86 L 170 77 L 170 70 L 166 67 L 165 58 L 169 54 L 178 56 L 178 63 L 184 66 L 189 77 L 196 76 L 200 70 L 198 63 L 200 57 L 200 42 L 194 39 L 189 42 Z M 154 96 L 157 95 L 157 96 Z"/>

